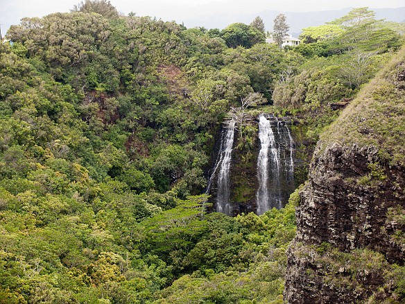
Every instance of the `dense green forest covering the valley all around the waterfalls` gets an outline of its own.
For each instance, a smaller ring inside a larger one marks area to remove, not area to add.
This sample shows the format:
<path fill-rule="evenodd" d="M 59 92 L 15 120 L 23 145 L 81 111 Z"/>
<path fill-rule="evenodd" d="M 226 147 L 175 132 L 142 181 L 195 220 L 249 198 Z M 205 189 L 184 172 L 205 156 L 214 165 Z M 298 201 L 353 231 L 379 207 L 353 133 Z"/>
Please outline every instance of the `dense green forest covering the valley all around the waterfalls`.
<path fill-rule="evenodd" d="M 329 103 L 403 41 L 368 10 L 335 24 L 295 49 L 245 24 L 184 28 L 106 1 L 12 26 L 0 44 L 0 303 L 282 303 L 298 192 L 234 218 L 207 212 L 202 193 L 223 118 L 251 98 L 250 115 L 295 122 L 304 182 L 339 114 Z M 248 163 L 255 130 L 238 128 Z"/>

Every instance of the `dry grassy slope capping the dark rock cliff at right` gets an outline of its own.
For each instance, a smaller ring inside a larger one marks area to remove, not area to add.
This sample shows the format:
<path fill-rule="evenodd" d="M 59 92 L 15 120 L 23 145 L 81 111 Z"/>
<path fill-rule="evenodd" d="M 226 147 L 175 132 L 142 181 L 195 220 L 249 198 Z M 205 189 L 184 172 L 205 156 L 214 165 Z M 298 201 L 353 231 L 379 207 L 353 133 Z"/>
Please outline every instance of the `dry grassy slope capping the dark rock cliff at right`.
<path fill-rule="evenodd" d="M 381 160 L 405 164 L 405 48 L 320 137 L 322 144 L 374 146 Z"/>

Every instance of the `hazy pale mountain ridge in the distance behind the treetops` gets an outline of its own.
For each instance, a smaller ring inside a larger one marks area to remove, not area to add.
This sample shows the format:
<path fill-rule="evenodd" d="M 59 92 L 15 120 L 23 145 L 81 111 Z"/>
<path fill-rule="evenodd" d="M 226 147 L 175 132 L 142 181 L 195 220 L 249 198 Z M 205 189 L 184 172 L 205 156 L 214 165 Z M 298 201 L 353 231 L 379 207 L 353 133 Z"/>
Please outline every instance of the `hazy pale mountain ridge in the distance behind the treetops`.
<path fill-rule="evenodd" d="M 330 22 L 336 18 L 342 17 L 353 8 L 344 8 L 343 10 L 322 10 L 318 12 L 284 12 L 287 17 L 287 23 L 290 25 L 290 32 L 298 35 L 302 28 L 307 26 L 318 26 Z M 386 19 L 393 22 L 405 22 L 405 7 L 403 8 L 370 8 L 376 13 L 377 19 Z M 200 15 L 190 19 L 184 19 L 184 25 L 192 28 L 194 26 L 204 26 L 206 28 L 225 28 L 234 22 L 243 22 L 250 24 L 256 16 L 260 16 L 266 25 L 268 31 L 272 30 L 273 19 L 280 13 L 277 10 L 264 10 L 249 14 L 209 14 Z"/>

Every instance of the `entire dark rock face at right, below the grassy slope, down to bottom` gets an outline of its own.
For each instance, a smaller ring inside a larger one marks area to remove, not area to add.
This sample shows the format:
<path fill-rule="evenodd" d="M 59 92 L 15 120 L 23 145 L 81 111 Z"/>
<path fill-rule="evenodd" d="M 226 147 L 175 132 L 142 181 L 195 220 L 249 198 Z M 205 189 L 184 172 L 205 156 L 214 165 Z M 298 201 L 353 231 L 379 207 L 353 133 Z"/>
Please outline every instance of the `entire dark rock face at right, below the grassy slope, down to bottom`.
<path fill-rule="evenodd" d="M 390 167 L 372 146 L 318 143 L 309 176 L 288 250 L 286 301 L 400 301 L 387 280 L 393 263 L 404 264 L 405 168 Z"/>

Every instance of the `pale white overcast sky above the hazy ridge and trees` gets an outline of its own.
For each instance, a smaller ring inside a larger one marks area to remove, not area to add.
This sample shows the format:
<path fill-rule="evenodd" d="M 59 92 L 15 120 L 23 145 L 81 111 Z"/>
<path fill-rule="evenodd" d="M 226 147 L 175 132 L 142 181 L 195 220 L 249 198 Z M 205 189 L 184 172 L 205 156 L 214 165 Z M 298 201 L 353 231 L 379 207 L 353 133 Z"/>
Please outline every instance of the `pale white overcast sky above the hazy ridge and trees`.
<path fill-rule="evenodd" d="M 0 0 L 0 24 L 4 35 L 11 24 L 19 24 L 22 17 L 43 17 L 51 12 L 69 12 L 77 0 Z M 308 12 L 340 10 L 368 6 L 369 8 L 399 8 L 404 0 L 110 0 L 113 6 L 127 15 L 151 16 L 166 21 L 184 20 L 199 15 L 259 13 L 264 10 Z M 187 26 L 187 23 L 185 23 Z"/>

